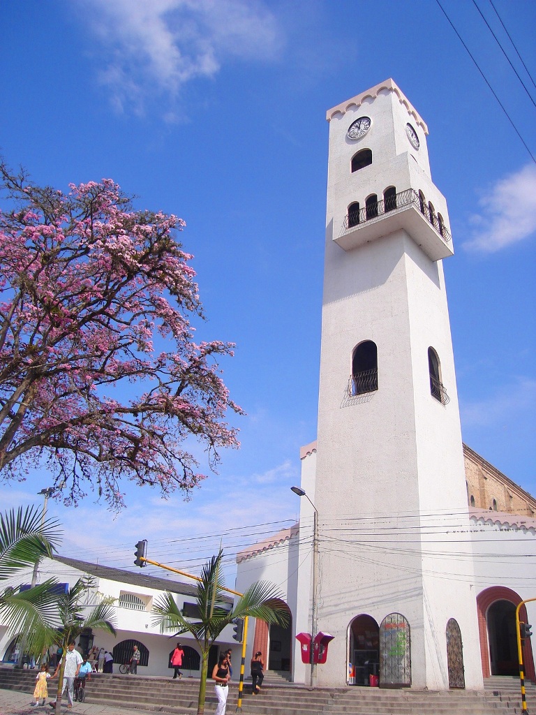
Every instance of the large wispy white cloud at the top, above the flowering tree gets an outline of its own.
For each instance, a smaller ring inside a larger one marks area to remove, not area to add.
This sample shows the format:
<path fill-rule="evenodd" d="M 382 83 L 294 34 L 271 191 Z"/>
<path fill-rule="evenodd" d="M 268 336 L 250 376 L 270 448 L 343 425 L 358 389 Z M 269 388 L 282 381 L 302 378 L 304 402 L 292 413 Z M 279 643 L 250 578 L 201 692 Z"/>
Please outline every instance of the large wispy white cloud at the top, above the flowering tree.
<path fill-rule="evenodd" d="M 93 0 L 86 16 L 101 40 L 101 82 L 116 109 L 142 111 L 155 90 L 174 98 L 230 57 L 271 60 L 281 46 L 274 15 L 255 0 Z"/>

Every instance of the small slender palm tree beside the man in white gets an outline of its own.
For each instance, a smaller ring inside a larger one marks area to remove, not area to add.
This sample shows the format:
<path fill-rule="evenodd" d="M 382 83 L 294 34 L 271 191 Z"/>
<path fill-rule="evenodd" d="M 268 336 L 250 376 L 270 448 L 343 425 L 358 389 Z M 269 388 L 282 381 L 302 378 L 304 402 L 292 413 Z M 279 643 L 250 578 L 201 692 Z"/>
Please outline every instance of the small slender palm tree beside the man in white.
<path fill-rule="evenodd" d="M 114 606 L 111 603 L 102 601 L 92 607 L 82 603 L 82 601 L 86 600 L 86 596 L 92 588 L 96 588 L 96 581 L 91 576 L 84 576 L 79 578 L 66 593 L 58 595 L 56 592 L 56 629 L 54 639 L 49 645 L 55 643 L 61 646 L 64 651 L 64 657 L 61 660 L 59 669 L 56 713 L 59 713 L 61 708 L 61 691 L 64 685 L 66 662 L 65 654 L 69 643 L 76 640 L 82 631 L 90 629 L 107 631 L 114 636 L 116 634 Z M 86 613 L 88 608 L 91 608 L 91 611 Z"/>

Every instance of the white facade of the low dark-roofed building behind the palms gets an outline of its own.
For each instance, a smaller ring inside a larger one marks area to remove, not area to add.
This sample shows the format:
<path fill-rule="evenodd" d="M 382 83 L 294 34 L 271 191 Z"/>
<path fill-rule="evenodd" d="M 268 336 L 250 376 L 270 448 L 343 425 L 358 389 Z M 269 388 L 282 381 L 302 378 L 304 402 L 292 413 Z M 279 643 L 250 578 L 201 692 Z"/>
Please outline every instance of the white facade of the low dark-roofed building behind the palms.
<path fill-rule="evenodd" d="M 78 567 L 72 564 L 76 564 Z M 16 586 L 19 586 L 20 583 L 30 583 L 31 571 L 31 569 L 26 572 L 20 571 L 10 581 Z M 183 647 L 189 646 L 197 653 L 200 652 L 194 638 L 189 633 L 184 633 L 178 638 L 172 635 L 170 638 L 169 634 L 162 635 L 159 628 L 152 623 L 152 607 L 159 596 L 163 595 L 165 588 L 169 588 L 179 608 L 183 608 L 184 603 L 195 603 L 193 586 L 172 581 L 172 579 L 167 581 L 164 578 L 145 576 L 142 570 L 139 573 L 131 573 L 98 564 L 87 563 L 84 565 L 84 562 L 69 558 L 62 561 L 46 558 L 41 561 L 39 582 L 46 578 L 56 578 L 59 583 L 69 584 L 70 588 L 86 573 L 92 575 L 96 583 L 95 588 L 87 593 L 88 610 L 98 602 L 99 596 L 114 599 L 116 636 L 104 631 L 94 631 L 93 644 L 95 646 L 104 648 L 111 653 L 121 641 L 131 639 L 139 641 L 149 651 L 148 664 L 139 666 L 139 675 L 171 675 L 173 671 L 168 668 L 169 654 L 173 651 L 177 641 L 180 641 Z M 166 582 L 169 583 L 169 586 Z M 138 610 L 142 607 L 142 603 L 144 604 L 143 610 Z M 229 598 L 229 608 L 231 605 L 232 600 Z M 240 646 L 233 641 L 232 635 L 232 626 L 226 626 L 217 641 L 218 650 L 224 651 L 230 647 L 238 655 Z M 6 661 L 13 638 L 14 634 L 7 633 L 6 627 L 0 623 L 0 661 Z M 114 673 L 119 672 L 119 665 L 121 665 L 119 662 L 114 663 Z M 199 672 L 199 669 L 191 671 L 184 669 L 184 676 L 199 677 Z"/>

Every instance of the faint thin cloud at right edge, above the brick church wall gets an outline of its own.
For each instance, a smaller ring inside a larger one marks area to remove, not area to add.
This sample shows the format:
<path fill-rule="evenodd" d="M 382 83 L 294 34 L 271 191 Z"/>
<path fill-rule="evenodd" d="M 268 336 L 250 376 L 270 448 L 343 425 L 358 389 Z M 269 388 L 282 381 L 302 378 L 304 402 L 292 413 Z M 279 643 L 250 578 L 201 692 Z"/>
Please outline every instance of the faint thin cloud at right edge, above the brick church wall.
<path fill-rule="evenodd" d="M 516 383 L 502 386 L 485 400 L 460 403 L 462 424 L 464 428 L 507 424 L 515 415 L 532 408 L 535 402 L 536 380 L 519 378 Z"/>

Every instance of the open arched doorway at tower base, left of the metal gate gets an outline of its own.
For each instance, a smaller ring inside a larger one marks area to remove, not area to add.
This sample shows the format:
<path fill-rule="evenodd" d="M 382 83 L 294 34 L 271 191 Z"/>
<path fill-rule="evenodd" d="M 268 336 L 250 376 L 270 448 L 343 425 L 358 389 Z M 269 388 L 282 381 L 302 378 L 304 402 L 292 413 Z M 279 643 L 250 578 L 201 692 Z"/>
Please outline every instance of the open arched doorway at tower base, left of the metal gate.
<path fill-rule="evenodd" d="M 379 673 L 379 626 L 372 616 L 362 613 L 348 627 L 349 663 L 352 685 L 368 686 L 370 676 Z"/>

